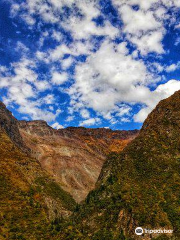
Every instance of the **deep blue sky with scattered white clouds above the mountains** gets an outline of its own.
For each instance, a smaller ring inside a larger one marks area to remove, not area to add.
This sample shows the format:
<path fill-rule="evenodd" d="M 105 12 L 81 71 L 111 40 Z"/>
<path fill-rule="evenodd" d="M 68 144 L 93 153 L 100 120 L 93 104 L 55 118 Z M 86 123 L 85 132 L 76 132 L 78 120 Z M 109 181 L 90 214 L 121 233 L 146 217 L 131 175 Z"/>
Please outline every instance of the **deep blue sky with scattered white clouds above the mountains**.
<path fill-rule="evenodd" d="M 17 119 L 139 129 L 180 89 L 180 0 L 0 0 L 0 100 Z"/>

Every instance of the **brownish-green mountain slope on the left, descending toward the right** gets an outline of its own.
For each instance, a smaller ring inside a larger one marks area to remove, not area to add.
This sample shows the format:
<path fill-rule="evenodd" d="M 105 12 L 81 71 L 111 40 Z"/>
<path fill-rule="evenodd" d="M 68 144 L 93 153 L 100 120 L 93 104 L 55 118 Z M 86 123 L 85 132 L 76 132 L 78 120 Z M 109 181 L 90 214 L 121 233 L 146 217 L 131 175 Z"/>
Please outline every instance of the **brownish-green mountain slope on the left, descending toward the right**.
<path fill-rule="evenodd" d="M 18 122 L 0 103 L 0 239 L 51 239 L 51 222 L 76 206 L 39 162 L 30 157 Z"/>

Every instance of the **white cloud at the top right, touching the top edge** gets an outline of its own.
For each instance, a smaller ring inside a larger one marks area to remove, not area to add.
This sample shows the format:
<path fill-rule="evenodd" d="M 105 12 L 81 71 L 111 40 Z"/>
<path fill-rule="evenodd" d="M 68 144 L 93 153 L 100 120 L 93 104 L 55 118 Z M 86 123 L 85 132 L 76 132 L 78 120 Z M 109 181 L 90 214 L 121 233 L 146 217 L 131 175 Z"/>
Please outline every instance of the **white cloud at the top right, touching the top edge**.
<path fill-rule="evenodd" d="M 161 1 L 113 0 L 123 21 L 123 32 L 142 55 L 164 53 L 162 40 L 165 35 L 163 21 L 168 17 Z M 156 3 L 156 4 L 155 4 Z M 155 5 L 154 5 L 155 4 Z M 132 8 L 138 5 L 139 9 Z M 152 8 L 154 6 L 154 8 Z"/>

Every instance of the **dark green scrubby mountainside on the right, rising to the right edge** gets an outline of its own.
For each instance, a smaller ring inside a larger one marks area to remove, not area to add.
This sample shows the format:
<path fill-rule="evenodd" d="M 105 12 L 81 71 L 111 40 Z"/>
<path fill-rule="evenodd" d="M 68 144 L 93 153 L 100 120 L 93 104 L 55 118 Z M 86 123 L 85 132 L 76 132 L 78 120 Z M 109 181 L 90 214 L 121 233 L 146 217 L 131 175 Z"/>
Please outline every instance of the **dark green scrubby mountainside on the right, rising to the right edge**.
<path fill-rule="evenodd" d="M 161 239 L 136 227 L 171 229 L 180 239 L 180 91 L 161 101 L 120 154 L 109 155 L 96 189 L 74 214 L 77 239 Z M 62 232 L 62 238 L 67 235 Z M 76 239 L 76 238 L 74 238 Z"/>

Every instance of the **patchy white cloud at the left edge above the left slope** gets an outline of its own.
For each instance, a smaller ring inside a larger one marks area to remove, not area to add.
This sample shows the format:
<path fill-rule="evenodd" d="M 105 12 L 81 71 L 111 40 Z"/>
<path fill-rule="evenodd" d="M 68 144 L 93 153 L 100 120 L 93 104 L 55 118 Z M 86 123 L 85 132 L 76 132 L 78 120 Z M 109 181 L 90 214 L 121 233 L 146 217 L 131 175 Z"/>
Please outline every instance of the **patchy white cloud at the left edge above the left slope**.
<path fill-rule="evenodd" d="M 39 80 L 35 71 L 36 64 L 28 58 L 12 63 L 11 69 L 1 68 L 0 89 L 6 89 L 7 95 L 3 101 L 7 105 L 17 104 L 19 113 L 28 115 L 31 119 L 43 119 L 51 122 L 59 115 L 42 109 L 43 104 L 53 104 L 52 94 L 40 97 L 40 93 L 49 88 L 47 81 Z"/>

